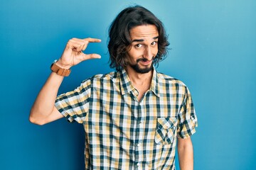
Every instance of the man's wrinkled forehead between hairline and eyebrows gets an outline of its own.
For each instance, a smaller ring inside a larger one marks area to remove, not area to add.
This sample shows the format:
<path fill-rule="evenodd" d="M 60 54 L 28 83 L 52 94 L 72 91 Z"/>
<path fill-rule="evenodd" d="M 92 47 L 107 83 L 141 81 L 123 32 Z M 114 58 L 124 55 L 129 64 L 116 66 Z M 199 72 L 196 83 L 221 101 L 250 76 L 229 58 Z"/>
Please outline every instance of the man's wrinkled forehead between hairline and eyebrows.
<path fill-rule="evenodd" d="M 130 30 L 130 36 L 132 40 L 135 39 L 151 39 L 159 35 L 156 26 L 154 25 L 143 25 L 135 26 Z"/>

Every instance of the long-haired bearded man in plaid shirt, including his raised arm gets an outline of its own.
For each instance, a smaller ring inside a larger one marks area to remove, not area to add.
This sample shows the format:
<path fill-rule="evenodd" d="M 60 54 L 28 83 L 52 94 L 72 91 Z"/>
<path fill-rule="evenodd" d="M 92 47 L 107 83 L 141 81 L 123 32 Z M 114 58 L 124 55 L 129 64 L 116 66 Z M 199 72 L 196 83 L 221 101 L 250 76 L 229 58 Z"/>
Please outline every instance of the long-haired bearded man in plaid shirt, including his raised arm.
<path fill-rule="evenodd" d="M 154 68 L 169 45 L 161 21 L 142 6 L 125 8 L 110 26 L 110 67 L 117 71 L 95 75 L 57 97 L 70 67 L 100 58 L 82 52 L 90 42 L 100 40 L 68 41 L 31 109 L 31 123 L 63 117 L 82 123 L 85 169 L 175 169 L 177 141 L 181 170 L 193 169 L 190 136 L 197 118 L 191 94 Z"/>

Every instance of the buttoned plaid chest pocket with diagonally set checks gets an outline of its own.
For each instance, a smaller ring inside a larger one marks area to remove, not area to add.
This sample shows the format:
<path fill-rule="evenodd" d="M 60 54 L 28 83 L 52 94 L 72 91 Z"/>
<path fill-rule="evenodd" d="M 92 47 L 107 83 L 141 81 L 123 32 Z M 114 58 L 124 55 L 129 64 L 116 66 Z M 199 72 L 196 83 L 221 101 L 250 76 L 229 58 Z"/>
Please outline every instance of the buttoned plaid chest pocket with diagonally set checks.
<path fill-rule="evenodd" d="M 156 135 L 157 145 L 169 145 L 174 142 L 177 118 L 157 118 Z"/>

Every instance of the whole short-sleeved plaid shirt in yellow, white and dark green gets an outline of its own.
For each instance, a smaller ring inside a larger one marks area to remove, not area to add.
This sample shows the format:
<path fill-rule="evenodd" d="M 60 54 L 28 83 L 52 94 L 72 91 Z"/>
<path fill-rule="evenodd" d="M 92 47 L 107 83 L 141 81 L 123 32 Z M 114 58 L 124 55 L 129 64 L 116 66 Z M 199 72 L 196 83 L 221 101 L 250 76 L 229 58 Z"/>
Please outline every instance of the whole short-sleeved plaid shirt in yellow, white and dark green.
<path fill-rule="evenodd" d="M 125 70 L 87 79 L 56 108 L 85 128 L 85 169 L 175 169 L 177 137 L 196 132 L 188 88 L 156 72 L 141 101 Z"/>

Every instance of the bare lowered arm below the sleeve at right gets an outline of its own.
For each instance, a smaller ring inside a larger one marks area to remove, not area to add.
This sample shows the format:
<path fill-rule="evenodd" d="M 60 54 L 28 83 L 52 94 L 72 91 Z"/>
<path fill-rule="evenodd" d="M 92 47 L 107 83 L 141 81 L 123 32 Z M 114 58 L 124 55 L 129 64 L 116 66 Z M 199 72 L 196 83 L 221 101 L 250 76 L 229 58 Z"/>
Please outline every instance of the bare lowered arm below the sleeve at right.
<path fill-rule="evenodd" d="M 178 138 L 178 162 L 181 170 L 193 170 L 193 145 L 191 138 Z"/>

